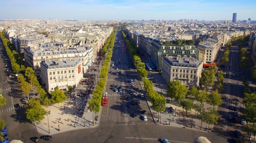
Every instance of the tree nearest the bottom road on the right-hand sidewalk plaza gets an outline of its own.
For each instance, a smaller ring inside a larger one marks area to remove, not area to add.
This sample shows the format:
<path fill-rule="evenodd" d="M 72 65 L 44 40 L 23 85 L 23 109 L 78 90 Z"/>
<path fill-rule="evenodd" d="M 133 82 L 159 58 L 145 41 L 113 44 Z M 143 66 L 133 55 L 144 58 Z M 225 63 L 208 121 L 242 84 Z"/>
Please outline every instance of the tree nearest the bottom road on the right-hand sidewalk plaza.
<path fill-rule="evenodd" d="M 203 113 L 203 121 L 205 121 L 209 126 L 212 123 L 218 124 L 218 111 L 214 108 L 207 108 L 208 112 Z"/>

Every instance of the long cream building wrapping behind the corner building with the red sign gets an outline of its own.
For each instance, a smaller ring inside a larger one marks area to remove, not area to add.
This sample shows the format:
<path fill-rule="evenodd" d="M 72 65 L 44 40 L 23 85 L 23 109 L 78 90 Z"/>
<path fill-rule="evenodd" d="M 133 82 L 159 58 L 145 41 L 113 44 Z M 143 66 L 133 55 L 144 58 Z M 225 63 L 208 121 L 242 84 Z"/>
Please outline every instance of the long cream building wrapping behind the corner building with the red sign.
<path fill-rule="evenodd" d="M 85 73 L 93 62 L 92 47 L 90 45 L 66 46 L 62 43 L 44 44 L 38 48 L 24 48 L 24 59 L 27 66 L 35 70 L 35 75 L 40 77 L 40 62 L 45 59 L 50 61 L 63 61 L 80 57 L 81 71 Z"/>

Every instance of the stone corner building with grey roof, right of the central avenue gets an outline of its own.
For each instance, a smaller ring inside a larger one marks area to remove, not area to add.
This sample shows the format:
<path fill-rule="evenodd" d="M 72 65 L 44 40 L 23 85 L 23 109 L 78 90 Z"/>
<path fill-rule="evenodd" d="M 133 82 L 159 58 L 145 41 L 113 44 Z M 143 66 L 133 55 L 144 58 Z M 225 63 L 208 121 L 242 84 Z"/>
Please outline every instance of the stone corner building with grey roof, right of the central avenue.
<path fill-rule="evenodd" d="M 203 61 L 200 58 L 183 58 L 179 56 L 166 56 L 162 62 L 162 78 L 170 83 L 179 80 L 188 88 L 199 86 L 199 78 L 203 70 Z"/>

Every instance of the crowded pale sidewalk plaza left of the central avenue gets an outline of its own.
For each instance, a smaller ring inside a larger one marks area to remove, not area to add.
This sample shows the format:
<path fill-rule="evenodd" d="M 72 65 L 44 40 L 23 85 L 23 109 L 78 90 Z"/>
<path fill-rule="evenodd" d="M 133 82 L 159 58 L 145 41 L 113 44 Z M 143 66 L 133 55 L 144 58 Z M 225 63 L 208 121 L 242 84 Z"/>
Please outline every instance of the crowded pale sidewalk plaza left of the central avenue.
<path fill-rule="evenodd" d="M 94 77 L 99 76 L 100 67 L 93 64 L 86 74 L 95 74 Z M 88 91 L 90 85 L 79 84 L 76 86 L 76 90 L 72 95 L 76 93 Z M 87 100 L 91 100 L 92 93 L 88 96 Z M 89 110 L 86 110 L 88 104 L 84 97 L 77 95 L 76 98 L 68 98 L 68 100 L 59 104 L 52 104 L 47 108 L 47 111 L 50 111 L 50 114 L 44 115 L 44 119 L 40 123 L 34 122 L 36 129 L 39 133 L 52 135 L 55 133 L 61 133 L 70 130 L 76 130 L 81 128 L 94 128 L 98 125 L 99 113 L 94 115 L 95 123 L 93 125 L 93 113 Z M 83 110 L 85 109 L 85 110 Z M 79 111 L 84 111 L 84 114 L 81 117 L 79 116 Z M 76 113 L 77 111 L 77 113 Z M 49 126 L 48 126 L 49 125 Z M 49 132 L 50 130 L 50 132 Z"/>

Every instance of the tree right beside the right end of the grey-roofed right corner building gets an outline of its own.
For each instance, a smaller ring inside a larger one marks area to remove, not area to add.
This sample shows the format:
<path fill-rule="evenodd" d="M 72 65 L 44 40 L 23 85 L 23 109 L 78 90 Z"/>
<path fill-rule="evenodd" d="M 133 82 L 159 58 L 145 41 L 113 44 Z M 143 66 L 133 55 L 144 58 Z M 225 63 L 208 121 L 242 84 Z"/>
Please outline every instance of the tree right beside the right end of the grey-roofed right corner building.
<path fill-rule="evenodd" d="M 201 73 L 200 84 L 204 85 L 204 87 L 208 89 L 214 84 L 214 78 L 215 78 L 214 72 L 210 70 L 204 70 Z"/>

